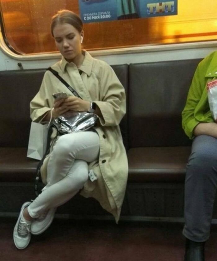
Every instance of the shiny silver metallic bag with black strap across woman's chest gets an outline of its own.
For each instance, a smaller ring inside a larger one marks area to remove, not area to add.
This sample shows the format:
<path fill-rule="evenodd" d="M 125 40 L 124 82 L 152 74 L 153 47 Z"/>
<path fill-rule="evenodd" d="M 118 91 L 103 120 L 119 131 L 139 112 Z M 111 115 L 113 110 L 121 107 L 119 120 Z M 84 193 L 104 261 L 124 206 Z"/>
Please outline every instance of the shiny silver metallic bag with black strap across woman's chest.
<path fill-rule="evenodd" d="M 81 96 L 51 67 L 48 68 L 71 92 L 74 96 Z M 96 124 L 98 116 L 87 111 L 67 111 L 53 120 L 53 127 L 58 134 L 67 134 L 79 131 L 86 131 Z"/>

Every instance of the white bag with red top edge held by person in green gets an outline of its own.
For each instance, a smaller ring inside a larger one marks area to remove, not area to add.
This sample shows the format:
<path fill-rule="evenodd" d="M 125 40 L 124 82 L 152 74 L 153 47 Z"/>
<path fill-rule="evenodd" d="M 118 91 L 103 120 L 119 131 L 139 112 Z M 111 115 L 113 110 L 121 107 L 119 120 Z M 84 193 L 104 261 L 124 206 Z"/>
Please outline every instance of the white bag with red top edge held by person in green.
<path fill-rule="evenodd" d="M 207 83 L 207 95 L 213 119 L 217 120 L 217 80 Z"/>

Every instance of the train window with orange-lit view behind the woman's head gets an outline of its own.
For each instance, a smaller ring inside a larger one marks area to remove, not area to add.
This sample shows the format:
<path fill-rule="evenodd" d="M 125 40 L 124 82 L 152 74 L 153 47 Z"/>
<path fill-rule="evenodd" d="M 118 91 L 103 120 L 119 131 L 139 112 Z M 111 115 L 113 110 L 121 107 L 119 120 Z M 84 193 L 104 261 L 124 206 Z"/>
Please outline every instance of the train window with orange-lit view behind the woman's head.
<path fill-rule="evenodd" d="M 19 54 L 55 52 L 51 16 L 60 9 L 79 14 L 78 1 L 82 0 L 0 0 L 7 45 Z M 144 0 L 136 0 L 136 5 L 140 1 Z M 178 15 L 85 23 L 83 47 L 102 50 L 216 40 L 216 10 L 217 1 L 178 0 Z"/>

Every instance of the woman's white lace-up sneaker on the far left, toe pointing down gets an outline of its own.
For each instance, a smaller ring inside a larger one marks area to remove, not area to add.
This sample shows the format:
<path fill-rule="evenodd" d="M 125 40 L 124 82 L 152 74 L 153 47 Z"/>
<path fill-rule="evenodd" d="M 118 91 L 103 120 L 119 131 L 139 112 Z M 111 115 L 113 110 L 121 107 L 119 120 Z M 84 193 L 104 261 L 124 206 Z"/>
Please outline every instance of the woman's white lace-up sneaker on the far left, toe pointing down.
<path fill-rule="evenodd" d="M 29 245 L 31 239 L 30 226 L 31 221 L 23 218 L 24 208 L 28 207 L 31 202 L 25 202 L 20 210 L 20 215 L 14 227 L 14 244 L 18 249 L 24 249 Z"/>

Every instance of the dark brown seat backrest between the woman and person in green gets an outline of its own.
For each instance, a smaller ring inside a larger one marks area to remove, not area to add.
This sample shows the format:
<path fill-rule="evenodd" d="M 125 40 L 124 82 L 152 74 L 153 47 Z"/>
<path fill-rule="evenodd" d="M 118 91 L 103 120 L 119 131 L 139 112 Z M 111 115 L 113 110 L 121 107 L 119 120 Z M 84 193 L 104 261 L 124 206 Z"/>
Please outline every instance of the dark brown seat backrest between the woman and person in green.
<path fill-rule="evenodd" d="M 130 148 L 191 144 L 182 129 L 181 112 L 200 60 L 130 64 Z"/>

